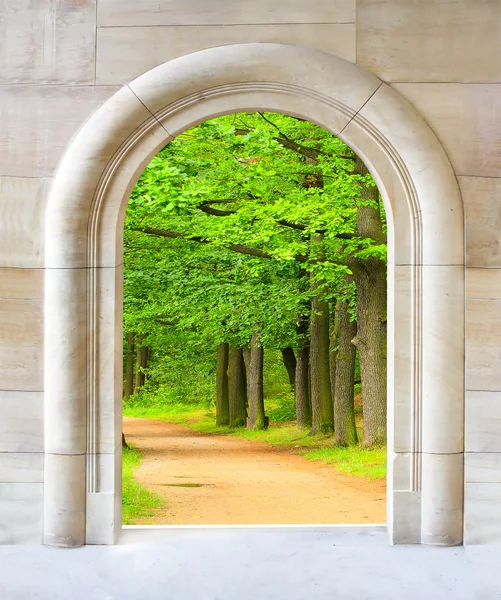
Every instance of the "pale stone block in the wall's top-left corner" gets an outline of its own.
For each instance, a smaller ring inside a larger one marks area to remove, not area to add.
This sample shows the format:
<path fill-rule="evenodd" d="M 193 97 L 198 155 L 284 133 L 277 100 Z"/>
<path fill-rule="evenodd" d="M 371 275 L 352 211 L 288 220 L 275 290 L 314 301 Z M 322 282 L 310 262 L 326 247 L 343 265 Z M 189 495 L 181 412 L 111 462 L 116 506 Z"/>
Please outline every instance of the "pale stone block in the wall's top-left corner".
<path fill-rule="evenodd" d="M 96 0 L 4 0 L 0 83 L 94 83 Z"/>

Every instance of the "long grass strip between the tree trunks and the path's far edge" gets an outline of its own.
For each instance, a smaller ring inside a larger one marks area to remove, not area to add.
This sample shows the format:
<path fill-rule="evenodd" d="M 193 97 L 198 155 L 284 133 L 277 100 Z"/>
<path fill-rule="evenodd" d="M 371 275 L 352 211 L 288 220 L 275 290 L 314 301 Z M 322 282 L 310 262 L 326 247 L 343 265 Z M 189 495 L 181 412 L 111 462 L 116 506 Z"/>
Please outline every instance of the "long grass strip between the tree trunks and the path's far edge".
<path fill-rule="evenodd" d="M 277 403 L 278 405 L 280 402 Z M 273 402 L 267 406 L 274 410 Z M 279 409 L 279 406 L 277 407 Z M 167 423 L 184 425 L 194 431 L 211 435 L 233 435 L 273 446 L 294 448 L 309 460 L 332 465 L 336 470 L 353 477 L 380 480 L 386 477 L 386 448 L 374 449 L 362 446 L 341 447 L 334 444 L 332 436 L 309 435 L 299 431 L 291 421 L 270 422 L 266 431 L 249 431 L 244 428 L 229 429 L 215 425 L 213 408 L 200 405 L 169 404 L 161 406 L 126 405 L 124 416 L 157 419 Z M 362 415 L 357 414 L 357 428 L 362 424 Z"/>

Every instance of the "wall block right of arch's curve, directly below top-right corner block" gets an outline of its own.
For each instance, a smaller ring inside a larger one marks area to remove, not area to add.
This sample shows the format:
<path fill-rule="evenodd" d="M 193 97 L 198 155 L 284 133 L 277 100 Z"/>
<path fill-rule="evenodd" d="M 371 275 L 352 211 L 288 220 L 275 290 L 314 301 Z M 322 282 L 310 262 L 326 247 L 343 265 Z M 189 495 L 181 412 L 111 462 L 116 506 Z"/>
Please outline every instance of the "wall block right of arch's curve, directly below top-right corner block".
<path fill-rule="evenodd" d="M 501 84 L 396 83 L 437 134 L 457 175 L 501 177 Z"/>

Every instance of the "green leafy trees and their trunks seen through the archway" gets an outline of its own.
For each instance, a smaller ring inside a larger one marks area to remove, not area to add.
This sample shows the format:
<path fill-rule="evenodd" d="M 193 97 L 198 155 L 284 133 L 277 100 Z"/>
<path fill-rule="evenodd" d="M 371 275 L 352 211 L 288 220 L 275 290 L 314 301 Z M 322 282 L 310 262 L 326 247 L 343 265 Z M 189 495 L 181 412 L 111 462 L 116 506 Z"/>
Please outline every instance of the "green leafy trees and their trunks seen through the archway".
<path fill-rule="evenodd" d="M 274 113 L 186 131 L 137 182 L 124 248 L 125 406 L 205 405 L 219 428 L 263 430 L 282 378 L 278 420 L 386 442 L 386 219 L 340 139 Z"/>

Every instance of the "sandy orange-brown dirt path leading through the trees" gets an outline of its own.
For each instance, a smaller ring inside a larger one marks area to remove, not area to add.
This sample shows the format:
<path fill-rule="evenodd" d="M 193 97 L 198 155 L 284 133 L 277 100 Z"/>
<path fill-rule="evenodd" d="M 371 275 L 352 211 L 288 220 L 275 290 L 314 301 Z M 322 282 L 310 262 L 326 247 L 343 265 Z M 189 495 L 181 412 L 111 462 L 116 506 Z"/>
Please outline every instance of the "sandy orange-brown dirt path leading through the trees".
<path fill-rule="evenodd" d="M 136 478 L 166 500 L 151 525 L 384 523 L 385 485 L 292 450 L 124 418 L 143 454 Z"/>

